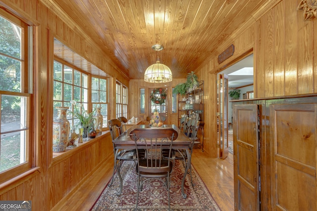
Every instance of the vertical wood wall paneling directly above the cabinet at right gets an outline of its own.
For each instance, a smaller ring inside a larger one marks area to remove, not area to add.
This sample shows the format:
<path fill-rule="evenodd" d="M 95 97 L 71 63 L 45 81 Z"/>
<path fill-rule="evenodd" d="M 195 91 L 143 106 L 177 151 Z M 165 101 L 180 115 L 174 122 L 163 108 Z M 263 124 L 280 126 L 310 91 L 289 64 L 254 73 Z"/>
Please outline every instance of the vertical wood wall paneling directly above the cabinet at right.
<path fill-rule="evenodd" d="M 317 19 L 284 0 L 256 22 L 257 97 L 316 93 Z"/>

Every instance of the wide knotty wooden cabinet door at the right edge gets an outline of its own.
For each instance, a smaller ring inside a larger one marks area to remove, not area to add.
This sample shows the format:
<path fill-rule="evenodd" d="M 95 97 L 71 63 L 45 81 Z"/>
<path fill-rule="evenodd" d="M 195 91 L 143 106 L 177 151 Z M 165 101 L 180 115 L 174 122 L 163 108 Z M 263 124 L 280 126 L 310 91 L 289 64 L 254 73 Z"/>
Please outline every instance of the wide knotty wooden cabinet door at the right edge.
<path fill-rule="evenodd" d="M 270 105 L 274 210 L 317 210 L 317 104 Z"/>

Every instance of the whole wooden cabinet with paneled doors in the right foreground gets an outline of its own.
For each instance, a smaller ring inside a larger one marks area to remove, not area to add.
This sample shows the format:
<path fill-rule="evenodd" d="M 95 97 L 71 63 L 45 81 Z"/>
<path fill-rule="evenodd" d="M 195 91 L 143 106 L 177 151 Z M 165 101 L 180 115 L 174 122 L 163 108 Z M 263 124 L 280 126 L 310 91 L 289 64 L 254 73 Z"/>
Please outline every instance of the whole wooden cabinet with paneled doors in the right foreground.
<path fill-rule="evenodd" d="M 233 104 L 235 210 L 317 210 L 317 95 Z"/>

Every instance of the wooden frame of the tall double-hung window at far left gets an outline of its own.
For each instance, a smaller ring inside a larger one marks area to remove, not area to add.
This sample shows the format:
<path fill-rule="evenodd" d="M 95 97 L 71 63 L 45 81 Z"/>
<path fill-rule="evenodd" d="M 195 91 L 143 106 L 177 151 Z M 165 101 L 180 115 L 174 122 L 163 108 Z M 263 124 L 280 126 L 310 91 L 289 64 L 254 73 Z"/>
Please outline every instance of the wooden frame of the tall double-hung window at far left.
<path fill-rule="evenodd" d="M 19 96 L 21 98 L 25 98 L 25 108 L 23 113 L 20 113 L 20 117 L 24 114 L 24 121 L 25 121 L 25 127 L 20 127 L 18 129 L 4 131 L 3 133 L 0 131 L 0 135 L 9 133 L 11 131 L 14 132 L 23 132 L 25 133 L 25 139 L 24 139 L 24 162 L 20 163 L 18 165 L 15 165 L 13 167 L 10 167 L 9 169 L 5 169 L 0 172 L 0 183 L 7 181 L 9 179 L 18 177 L 20 174 L 25 173 L 27 171 L 30 171 L 32 169 L 36 170 L 36 138 L 34 137 L 34 118 L 31 118 L 34 116 L 33 110 L 35 108 L 34 104 L 34 96 L 33 96 L 33 73 L 34 73 L 34 67 L 33 67 L 33 57 L 32 54 L 34 52 L 35 46 L 33 45 L 33 39 L 34 39 L 34 29 L 31 25 L 28 25 L 27 23 L 23 22 L 22 20 L 18 19 L 17 17 L 7 13 L 6 11 L 0 9 L 0 16 L 7 21 L 11 22 L 12 24 L 18 26 L 21 28 L 21 45 L 20 45 L 20 58 L 12 57 L 10 55 L 7 55 L 5 53 L 0 53 L 1 56 L 5 56 L 11 59 L 14 59 L 16 61 L 21 62 L 20 67 L 20 91 L 7 91 L 7 90 L 0 90 L 0 102 L 2 95 L 6 96 Z M 2 112 L 2 111 L 0 111 Z M 20 120 L 22 121 L 22 119 Z M 21 142 L 21 140 L 20 140 Z M 20 154 L 21 156 L 21 146 L 20 146 Z M 20 158 L 21 162 L 21 158 Z"/>

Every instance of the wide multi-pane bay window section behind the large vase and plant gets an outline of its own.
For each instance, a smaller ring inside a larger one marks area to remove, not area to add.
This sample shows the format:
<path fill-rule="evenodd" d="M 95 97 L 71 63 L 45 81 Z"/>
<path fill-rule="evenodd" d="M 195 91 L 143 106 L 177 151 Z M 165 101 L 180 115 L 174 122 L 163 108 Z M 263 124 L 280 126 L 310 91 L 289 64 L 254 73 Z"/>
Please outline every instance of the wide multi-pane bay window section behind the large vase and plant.
<path fill-rule="evenodd" d="M 53 119 L 57 118 L 56 107 L 69 107 L 73 112 L 74 108 L 70 103 L 71 100 L 82 103 L 85 110 L 88 110 L 88 75 L 54 60 Z M 70 113 L 68 113 L 67 119 L 70 127 L 76 126 L 78 123 L 77 119 L 72 119 Z"/>

